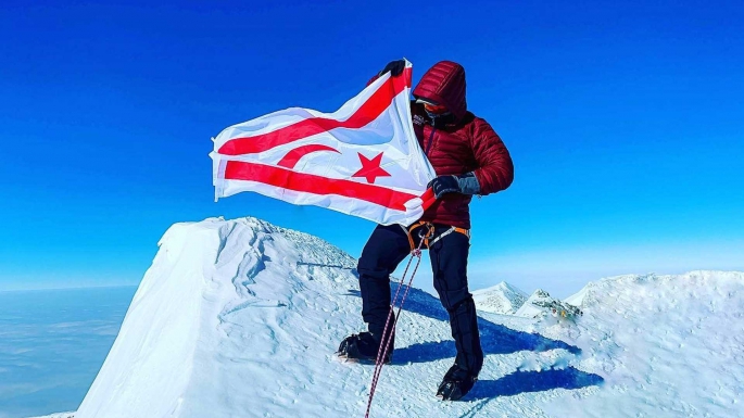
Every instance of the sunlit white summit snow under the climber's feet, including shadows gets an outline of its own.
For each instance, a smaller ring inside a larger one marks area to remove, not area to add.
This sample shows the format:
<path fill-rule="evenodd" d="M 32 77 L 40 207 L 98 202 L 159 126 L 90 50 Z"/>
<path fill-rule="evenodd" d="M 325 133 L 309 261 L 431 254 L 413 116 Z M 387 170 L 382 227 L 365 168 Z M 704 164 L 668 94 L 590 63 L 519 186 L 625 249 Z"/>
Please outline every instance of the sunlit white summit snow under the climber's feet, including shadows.
<path fill-rule="evenodd" d="M 374 367 L 333 355 L 363 329 L 354 265 L 254 218 L 174 225 L 75 418 L 363 416 Z M 479 312 L 483 371 L 453 403 L 434 396 L 454 359 L 447 315 L 413 288 L 371 416 L 742 416 L 744 274 L 582 292 L 576 324 Z"/>

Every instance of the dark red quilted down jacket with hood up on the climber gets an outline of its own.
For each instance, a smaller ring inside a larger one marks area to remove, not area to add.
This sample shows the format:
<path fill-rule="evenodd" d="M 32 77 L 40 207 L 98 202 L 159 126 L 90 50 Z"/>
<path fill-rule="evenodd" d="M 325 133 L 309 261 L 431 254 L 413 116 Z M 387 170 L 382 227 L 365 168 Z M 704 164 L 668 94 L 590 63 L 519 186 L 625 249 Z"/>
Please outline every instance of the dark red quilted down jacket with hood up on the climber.
<path fill-rule="evenodd" d="M 437 63 L 426 72 L 413 94 L 444 104 L 452 113 L 433 126 L 424 105 L 411 104 L 416 137 L 437 175 L 475 172 L 481 195 L 512 185 L 514 165 L 504 142 L 488 122 L 467 111 L 462 65 L 451 61 Z M 445 194 L 424 213 L 421 220 L 470 229 L 471 199 L 459 193 Z"/>

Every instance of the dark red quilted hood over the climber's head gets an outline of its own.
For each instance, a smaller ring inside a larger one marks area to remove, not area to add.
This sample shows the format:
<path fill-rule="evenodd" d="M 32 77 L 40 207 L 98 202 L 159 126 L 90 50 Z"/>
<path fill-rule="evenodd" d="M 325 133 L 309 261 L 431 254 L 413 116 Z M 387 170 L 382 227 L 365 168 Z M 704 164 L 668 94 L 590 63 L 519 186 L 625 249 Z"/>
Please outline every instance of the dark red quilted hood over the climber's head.
<path fill-rule="evenodd" d="M 446 105 L 457 121 L 465 117 L 465 68 L 452 61 L 440 61 L 424 74 L 414 97 Z"/>

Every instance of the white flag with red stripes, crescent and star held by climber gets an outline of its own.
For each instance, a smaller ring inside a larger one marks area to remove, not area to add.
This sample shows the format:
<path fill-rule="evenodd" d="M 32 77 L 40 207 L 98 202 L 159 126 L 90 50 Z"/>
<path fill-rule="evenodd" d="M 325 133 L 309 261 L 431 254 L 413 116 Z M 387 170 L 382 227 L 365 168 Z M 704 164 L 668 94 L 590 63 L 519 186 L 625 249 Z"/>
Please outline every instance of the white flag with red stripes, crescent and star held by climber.
<path fill-rule="evenodd" d="M 215 199 L 253 191 L 378 224 L 409 225 L 433 202 L 434 170 L 411 121 L 412 64 L 333 113 L 291 107 L 213 139 Z"/>

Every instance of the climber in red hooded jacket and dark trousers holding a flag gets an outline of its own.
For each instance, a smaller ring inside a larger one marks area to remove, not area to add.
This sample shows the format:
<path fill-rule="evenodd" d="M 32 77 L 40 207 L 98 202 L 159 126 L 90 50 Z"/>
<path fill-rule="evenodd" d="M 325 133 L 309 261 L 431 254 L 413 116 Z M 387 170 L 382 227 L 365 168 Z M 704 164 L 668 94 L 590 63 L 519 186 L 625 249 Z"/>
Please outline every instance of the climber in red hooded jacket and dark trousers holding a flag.
<path fill-rule="evenodd" d="M 378 77 L 387 72 L 399 76 L 404 67 L 404 60 L 393 61 Z M 457 349 L 437 395 L 451 401 L 470 391 L 483 366 L 476 305 L 467 283 L 468 206 L 472 195 L 504 190 L 514 179 L 509 152 L 491 126 L 468 111 L 465 87 L 463 66 L 441 61 L 424 74 L 413 91 L 414 130 L 438 176 L 429 183 L 437 201 L 414 225 L 375 228 L 357 265 L 362 317 L 368 331 L 345 338 L 339 346 L 343 357 L 376 360 L 391 311 L 390 275 L 429 236 L 421 245 L 428 248 L 434 289 L 449 314 Z M 389 326 L 388 332 L 393 328 Z M 388 341 L 391 345 L 383 363 L 391 360 L 394 334 Z"/>

